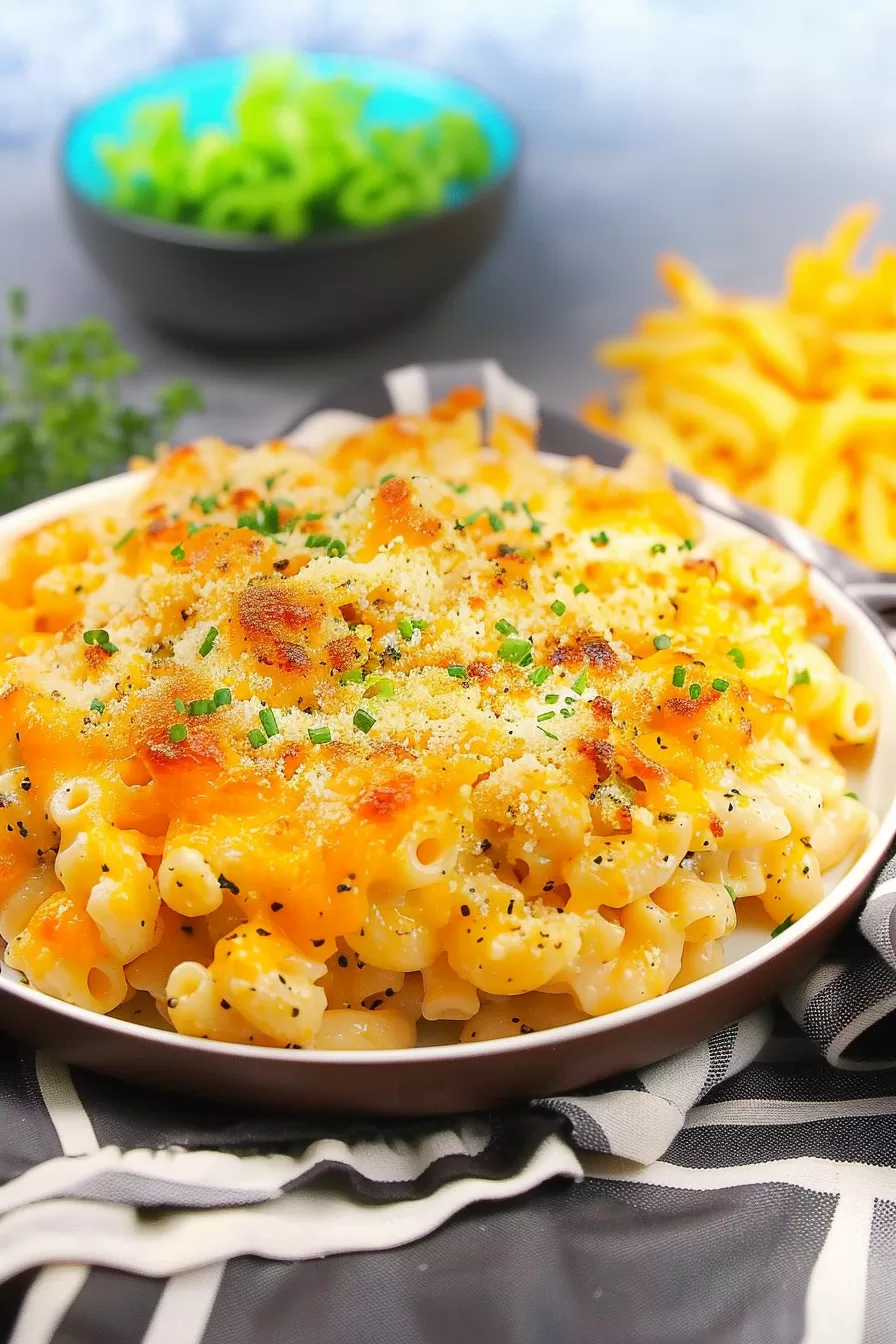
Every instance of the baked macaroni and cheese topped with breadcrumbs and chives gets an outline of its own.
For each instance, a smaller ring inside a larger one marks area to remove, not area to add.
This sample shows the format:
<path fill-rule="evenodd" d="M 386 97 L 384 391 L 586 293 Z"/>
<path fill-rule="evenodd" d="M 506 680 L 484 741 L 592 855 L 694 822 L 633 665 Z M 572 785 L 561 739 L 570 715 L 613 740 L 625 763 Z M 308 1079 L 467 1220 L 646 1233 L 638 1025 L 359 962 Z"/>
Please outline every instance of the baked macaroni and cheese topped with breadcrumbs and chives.
<path fill-rule="evenodd" d="M 476 406 L 201 441 L 124 523 L 0 556 L 0 938 L 34 988 L 212 1040 L 481 1042 L 821 899 L 876 710 L 803 567 L 699 543 L 643 461 L 484 445 Z"/>

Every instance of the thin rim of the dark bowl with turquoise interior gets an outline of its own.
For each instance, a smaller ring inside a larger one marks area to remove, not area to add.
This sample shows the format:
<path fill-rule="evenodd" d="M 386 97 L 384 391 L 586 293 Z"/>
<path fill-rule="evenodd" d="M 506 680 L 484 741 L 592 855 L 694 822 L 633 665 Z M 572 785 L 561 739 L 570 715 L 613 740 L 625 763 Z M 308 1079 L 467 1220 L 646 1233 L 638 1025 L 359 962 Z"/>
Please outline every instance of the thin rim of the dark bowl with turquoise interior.
<path fill-rule="evenodd" d="M 301 52 L 298 52 L 301 55 Z M 226 59 L 239 59 L 251 55 L 258 55 L 254 48 L 223 52 L 218 56 L 200 58 L 197 60 L 175 60 L 171 65 L 164 65 L 153 71 L 148 71 L 144 78 L 149 78 L 152 74 L 161 74 L 163 71 L 177 71 L 177 70 L 192 70 L 197 66 L 210 66 Z M 488 93 L 478 83 L 472 79 L 461 78 L 459 75 L 450 74 L 445 70 L 438 70 L 433 66 L 419 65 L 411 60 L 394 60 L 391 58 L 380 56 L 367 56 L 364 52 L 353 51 L 309 51 L 308 55 L 313 56 L 357 56 L 359 59 L 376 62 L 380 66 L 391 66 L 395 70 L 415 70 L 423 74 L 433 75 L 435 78 L 445 79 L 450 83 L 459 85 L 462 87 L 470 89 L 477 93 L 486 102 L 492 103 L 493 108 L 500 112 L 504 120 L 510 125 L 514 136 L 513 156 L 508 167 L 484 181 L 482 184 L 473 187 L 473 190 L 463 198 L 453 204 L 442 206 L 439 210 L 433 211 L 429 215 L 412 215 L 408 219 L 399 219 L 391 224 L 377 224 L 375 228 L 329 228 L 320 230 L 317 233 L 308 234 L 305 238 L 270 238 L 267 234 L 238 234 L 227 233 L 224 230 L 214 228 L 200 228 L 195 224 L 175 224 L 164 219 L 154 219 L 150 215 L 138 215 L 133 211 L 116 210 L 113 206 L 106 204 L 102 200 L 95 200 L 93 196 L 86 195 L 81 191 L 77 183 L 71 179 L 66 167 L 66 151 L 69 141 L 74 133 L 78 122 L 94 108 L 101 106 L 117 94 L 126 93 L 128 89 L 133 87 L 136 83 L 141 82 L 141 77 L 136 79 L 122 81 L 114 86 L 105 90 L 98 98 L 91 98 L 87 102 L 78 103 L 66 117 L 60 130 L 56 134 L 55 146 L 55 165 L 62 181 L 66 198 L 78 207 L 90 211 L 97 218 L 105 220 L 110 227 L 121 228 L 124 233 L 133 234 L 138 238 L 152 239 L 160 243 L 173 243 L 181 245 L 187 249 L 210 249 L 212 251 L 222 253 L 246 253 L 246 254 L 290 254 L 290 253 L 318 253 L 318 251 L 340 251 L 345 247 L 359 246 L 363 242 L 377 243 L 382 241 L 402 239 L 410 234 L 419 233 L 427 227 L 431 227 L 437 220 L 441 219 L 459 219 L 463 215 L 470 214 L 473 210 L 480 207 L 490 196 L 498 196 L 505 192 L 514 181 L 520 163 L 523 160 L 524 151 L 524 133 L 519 117 L 509 110 L 509 108 L 494 94 Z"/>

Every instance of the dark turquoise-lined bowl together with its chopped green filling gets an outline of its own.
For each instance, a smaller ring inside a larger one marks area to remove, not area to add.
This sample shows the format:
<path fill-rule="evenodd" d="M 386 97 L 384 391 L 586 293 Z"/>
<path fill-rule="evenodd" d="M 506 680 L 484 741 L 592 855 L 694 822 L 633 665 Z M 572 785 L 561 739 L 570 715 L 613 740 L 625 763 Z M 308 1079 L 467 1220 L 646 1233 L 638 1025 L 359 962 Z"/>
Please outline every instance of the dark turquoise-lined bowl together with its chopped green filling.
<path fill-rule="evenodd" d="M 75 113 L 69 212 L 150 321 L 220 345 L 332 343 L 445 294 L 496 239 L 508 113 L 433 71 L 345 55 L 164 70 Z"/>

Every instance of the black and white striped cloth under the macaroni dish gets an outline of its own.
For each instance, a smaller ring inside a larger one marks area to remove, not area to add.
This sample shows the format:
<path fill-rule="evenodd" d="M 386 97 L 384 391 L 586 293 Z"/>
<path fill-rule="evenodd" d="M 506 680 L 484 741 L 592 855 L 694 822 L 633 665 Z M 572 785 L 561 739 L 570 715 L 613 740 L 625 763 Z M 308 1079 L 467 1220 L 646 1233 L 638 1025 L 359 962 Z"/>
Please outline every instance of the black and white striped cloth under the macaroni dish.
<path fill-rule="evenodd" d="M 412 368 L 294 437 L 458 380 L 536 413 L 497 366 Z M 544 422 L 553 452 L 623 452 Z M 895 921 L 891 860 L 783 1004 L 576 1095 L 450 1122 L 240 1111 L 0 1034 L 0 1339 L 892 1344 Z"/>

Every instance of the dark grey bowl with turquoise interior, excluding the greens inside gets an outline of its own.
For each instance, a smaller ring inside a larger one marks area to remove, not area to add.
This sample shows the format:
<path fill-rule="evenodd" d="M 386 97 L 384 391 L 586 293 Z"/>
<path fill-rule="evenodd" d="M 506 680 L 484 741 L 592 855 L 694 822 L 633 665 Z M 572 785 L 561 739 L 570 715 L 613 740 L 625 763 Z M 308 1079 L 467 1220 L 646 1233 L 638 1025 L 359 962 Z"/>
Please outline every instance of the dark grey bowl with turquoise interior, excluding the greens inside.
<path fill-rule="evenodd" d="M 71 219 L 99 271 L 150 321 L 219 345 L 333 343 L 411 316 L 451 288 L 497 237 L 520 155 L 510 117 L 477 89 L 414 66 L 308 55 L 316 75 L 372 86 L 367 117 L 410 125 L 470 113 L 492 171 L 453 190 L 437 214 L 377 228 L 340 228 L 287 242 L 169 224 L 109 204 L 99 144 L 125 140 L 134 109 L 181 98 L 191 129 L 227 125 L 249 56 L 199 62 L 129 85 L 69 122 L 60 172 Z"/>

